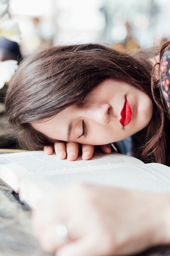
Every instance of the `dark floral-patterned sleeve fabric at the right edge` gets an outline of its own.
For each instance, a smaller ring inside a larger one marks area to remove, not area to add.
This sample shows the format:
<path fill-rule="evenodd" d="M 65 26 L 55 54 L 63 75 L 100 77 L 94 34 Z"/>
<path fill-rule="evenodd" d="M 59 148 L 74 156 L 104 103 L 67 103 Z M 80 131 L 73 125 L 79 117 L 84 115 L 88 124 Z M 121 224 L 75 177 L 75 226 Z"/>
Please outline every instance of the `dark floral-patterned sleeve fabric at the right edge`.
<path fill-rule="evenodd" d="M 161 89 L 170 110 L 170 47 L 164 52 L 160 63 Z"/>

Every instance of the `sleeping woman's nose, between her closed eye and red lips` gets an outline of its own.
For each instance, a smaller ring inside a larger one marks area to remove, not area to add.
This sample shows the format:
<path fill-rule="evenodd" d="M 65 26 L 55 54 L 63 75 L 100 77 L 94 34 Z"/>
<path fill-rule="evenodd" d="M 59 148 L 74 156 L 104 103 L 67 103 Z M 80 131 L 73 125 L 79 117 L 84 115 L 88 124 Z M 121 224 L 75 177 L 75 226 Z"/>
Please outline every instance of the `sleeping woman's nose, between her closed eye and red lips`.
<path fill-rule="evenodd" d="M 90 104 L 86 106 L 85 115 L 99 124 L 107 125 L 111 119 L 112 107 L 108 103 Z"/>

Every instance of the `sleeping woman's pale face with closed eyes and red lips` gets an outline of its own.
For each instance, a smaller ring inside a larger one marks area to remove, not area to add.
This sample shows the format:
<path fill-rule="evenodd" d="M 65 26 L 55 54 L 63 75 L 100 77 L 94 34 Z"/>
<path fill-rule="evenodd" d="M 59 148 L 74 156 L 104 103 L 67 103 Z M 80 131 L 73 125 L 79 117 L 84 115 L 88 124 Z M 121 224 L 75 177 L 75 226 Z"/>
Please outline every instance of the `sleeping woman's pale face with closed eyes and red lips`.
<path fill-rule="evenodd" d="M 144 92 L 123 81 L 107 79 L 81 103 L 32 125 L 52 139 L 102 145 L 135 134 L 151 117 L 152 101 Z"/>

